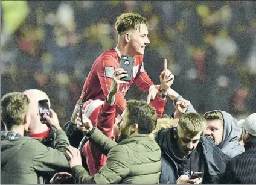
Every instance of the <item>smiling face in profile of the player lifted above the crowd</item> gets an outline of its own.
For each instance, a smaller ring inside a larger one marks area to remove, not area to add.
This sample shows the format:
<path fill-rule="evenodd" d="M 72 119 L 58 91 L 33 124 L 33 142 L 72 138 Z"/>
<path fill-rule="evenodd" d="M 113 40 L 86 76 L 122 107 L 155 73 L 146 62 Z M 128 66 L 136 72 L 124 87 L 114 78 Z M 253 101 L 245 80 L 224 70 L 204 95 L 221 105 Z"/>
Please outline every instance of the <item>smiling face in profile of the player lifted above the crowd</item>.
<path fill-rule="evenodd" d="M 145 24 L 138 26 L 137 30 L 130 31 L 129 49 L 134 55 L 143 55 L 145 48 L 149 45 L 149 31 Z"/>

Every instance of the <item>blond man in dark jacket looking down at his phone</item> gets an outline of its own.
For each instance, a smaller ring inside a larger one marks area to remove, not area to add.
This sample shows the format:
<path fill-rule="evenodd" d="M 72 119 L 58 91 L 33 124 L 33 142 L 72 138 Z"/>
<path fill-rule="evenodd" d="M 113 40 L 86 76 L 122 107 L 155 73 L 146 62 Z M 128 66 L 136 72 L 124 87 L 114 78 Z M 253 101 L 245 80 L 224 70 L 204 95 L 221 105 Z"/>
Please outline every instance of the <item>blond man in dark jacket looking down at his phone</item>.
<path fill-rule="evenodd" d="M 161 184 L 219 183 L 226 157 L 213 140 L 202 136 L 204 128 L 199 114 L 185 113 L 177 127 L 155 134 L 162 151 Z M 194 172 L 201 172 L 201 175 L 191 178 Z"/>

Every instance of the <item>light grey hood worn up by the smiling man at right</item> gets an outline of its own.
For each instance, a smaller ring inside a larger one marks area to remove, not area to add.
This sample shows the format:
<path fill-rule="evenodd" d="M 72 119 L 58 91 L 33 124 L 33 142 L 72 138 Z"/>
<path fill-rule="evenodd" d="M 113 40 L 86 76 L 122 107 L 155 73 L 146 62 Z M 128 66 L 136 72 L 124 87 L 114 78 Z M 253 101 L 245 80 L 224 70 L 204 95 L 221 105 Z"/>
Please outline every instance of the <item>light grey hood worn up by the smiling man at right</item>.
<path fill-rule="evenodd" d="M 241 136 L 242 128 L 237 127 L 237 120 L 231 116 L 231 114 L 226 113 L 225 111 L 218 110 L 222 113 L 223 116 L 223 136 L 222 136 L 222 143 L 217 145 L 223 153 L 227 154 L 228 152 L 235 152 L 235 151 L 244 151 L 242 145 L 240 145 L 237 139 Z M 231 149 L 234 149 L 231 150 Z"/>

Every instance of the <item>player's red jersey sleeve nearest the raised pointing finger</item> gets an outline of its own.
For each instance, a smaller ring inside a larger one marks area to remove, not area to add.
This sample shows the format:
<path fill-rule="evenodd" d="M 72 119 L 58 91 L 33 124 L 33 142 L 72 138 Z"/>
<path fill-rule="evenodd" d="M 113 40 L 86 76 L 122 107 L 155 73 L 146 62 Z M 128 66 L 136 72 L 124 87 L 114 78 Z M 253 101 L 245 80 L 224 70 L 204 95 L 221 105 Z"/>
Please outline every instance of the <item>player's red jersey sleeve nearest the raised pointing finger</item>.
<path fill-rule="evenodd" d="M 153 82 L 149 78 L 149 75 L 147 75 L 147 72 L 144 69 L 142 55 L 139 57 L 139 63 L 139 71 L 138 74 L 136 75 L 136 78 L 134 79 L 134 83 L 136 84 L 137 87 L 139 87 L 139 89 L 149 92 L 149 88 L 153 85 Z"/>

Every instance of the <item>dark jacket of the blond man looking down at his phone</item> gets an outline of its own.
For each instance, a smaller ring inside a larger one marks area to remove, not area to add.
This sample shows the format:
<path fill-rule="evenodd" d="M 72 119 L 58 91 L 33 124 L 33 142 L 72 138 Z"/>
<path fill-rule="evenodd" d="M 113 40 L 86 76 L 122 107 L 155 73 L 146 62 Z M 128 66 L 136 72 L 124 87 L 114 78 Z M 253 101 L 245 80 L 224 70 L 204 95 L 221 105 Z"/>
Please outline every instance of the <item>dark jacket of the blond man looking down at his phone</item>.
<path fill-rule="evenodd" d="M 190 163 L 190 173 L 191 169 L 195 167 L 198 171 L 203 172 L 203 184 L 219 183 L 228 160 L 226 155 L 214 145 L 213 140 L 201 136 L 199 144 L 191 153 L 190 158 L 188 160 L 179 159 L 173 152 L 174 145 L 177 143 L 174 139 L 173 129 L 161 130 L 155 137 L 162 151 L 160 183 L 176 184 L 176 180 L 179 178 L 178 163 L 182 163 L 182 165 Z"/>

